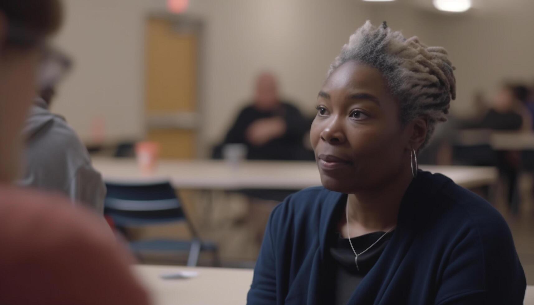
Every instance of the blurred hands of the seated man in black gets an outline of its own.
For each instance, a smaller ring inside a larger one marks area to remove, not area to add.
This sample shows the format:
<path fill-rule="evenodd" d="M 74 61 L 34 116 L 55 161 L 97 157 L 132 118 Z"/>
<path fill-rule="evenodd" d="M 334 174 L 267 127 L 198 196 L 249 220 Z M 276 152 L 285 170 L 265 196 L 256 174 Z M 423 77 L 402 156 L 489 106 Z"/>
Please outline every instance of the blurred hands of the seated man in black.
<path fill-rule="evenodd" d="M 262 146 L 284 135 L 286 128 L 286 122 L 280 117 L 261 119 L 250 124 L 246 137 L 250 144 Z"/>

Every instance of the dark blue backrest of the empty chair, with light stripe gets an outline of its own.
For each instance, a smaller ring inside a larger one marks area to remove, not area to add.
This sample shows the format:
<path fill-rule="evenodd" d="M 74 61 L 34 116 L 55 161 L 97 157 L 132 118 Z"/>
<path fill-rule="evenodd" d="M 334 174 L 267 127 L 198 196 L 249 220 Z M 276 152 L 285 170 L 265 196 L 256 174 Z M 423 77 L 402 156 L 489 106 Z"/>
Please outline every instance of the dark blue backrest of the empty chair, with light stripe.
<path fill-rule="evenodd" d="M 104 214 L 117 226 L 139 226 L 187 221 L 169 182 L 148 184 L 106 183 Z"/>

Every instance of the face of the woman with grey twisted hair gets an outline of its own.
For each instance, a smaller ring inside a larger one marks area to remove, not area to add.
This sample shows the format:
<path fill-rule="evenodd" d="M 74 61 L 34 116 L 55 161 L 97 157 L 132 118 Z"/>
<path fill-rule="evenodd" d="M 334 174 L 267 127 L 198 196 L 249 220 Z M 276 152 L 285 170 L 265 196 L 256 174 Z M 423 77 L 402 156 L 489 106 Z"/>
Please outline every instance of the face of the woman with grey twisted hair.
<path fill-rule="evenodd" d="M 345 62 L 321 88 L 317 109 L 310 139 L 327 189 L 356 193 L 411 170 L 410 132 L 378 69 Z"/>

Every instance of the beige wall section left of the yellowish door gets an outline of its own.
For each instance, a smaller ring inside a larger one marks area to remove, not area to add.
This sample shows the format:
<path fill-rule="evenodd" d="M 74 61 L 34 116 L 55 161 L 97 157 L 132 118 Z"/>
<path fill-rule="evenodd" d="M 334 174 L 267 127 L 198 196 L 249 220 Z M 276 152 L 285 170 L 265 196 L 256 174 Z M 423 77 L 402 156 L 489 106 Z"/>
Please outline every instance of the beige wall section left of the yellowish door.
<path fill-rule="evenodd" d="M 84 139 L 105 122 L 110 139 L 143 132 L 143 0 L 67 0 L 57 44 L 74 58 L 53 110 Z"/>

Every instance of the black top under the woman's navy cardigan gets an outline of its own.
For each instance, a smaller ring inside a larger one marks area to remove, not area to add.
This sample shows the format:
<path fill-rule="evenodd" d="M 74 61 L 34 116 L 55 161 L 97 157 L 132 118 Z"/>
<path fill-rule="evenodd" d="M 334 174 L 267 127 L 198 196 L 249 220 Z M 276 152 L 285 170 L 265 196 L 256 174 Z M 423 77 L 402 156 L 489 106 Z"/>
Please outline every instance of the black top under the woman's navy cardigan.
<path fill-rule="evenodd" d="M 384 233 L 386 232 L 368 233 L 351 238 L 350 241 L 356 253 L 361 253 L 382 237 Z M 332 270 L 334 277 L 332 304 L 347 304 L 360 281 L 378 261 L 392 234 L 392 231 L 387 233 L 372 248 L 358 256 L 358 267 L 356 267 L 356 256 L 350 247 L 349 239 L 341 237 L 340 233 L 332 236 L 335 241 L 329 249 L 331 260 L 326 261 L 327 264 L 330 264 L 327 268 Z"/>

